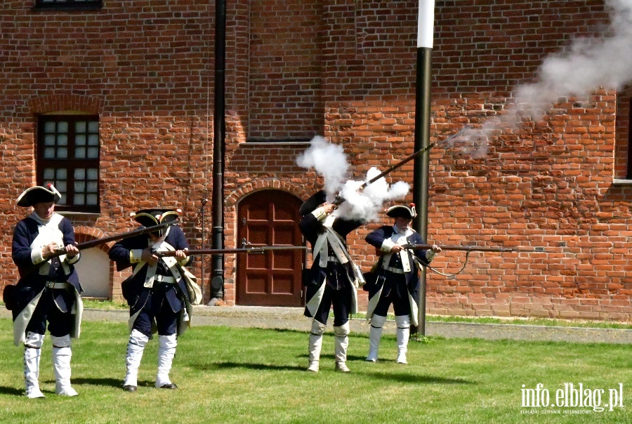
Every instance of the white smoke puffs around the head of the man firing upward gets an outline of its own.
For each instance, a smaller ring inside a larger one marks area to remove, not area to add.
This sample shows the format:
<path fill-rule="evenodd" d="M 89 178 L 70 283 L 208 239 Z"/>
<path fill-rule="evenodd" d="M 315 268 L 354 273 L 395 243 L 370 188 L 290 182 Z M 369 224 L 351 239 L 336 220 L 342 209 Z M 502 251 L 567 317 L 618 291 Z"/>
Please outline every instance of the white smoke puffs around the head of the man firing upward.
<path fill-rule="evenodd" d="M 380 171 L 371 168 L 365 180 L 346 180 L 350 165 L 343 148 L 328 143 L 320 136 L 312 138 L 310 147 L 296 159 L 296 164 L 301 168 L 314 168 L 323 176 L 328 201 L 334 201 L 337 194 L 345 199 L 336 215 L 348 219 L 374 220 L 385 201 L 406 196 L 410 188 L 404 181 L 390 186 L 384 178 L 380 178 L 358 191 L 365 181 L 376 177 Z"/>

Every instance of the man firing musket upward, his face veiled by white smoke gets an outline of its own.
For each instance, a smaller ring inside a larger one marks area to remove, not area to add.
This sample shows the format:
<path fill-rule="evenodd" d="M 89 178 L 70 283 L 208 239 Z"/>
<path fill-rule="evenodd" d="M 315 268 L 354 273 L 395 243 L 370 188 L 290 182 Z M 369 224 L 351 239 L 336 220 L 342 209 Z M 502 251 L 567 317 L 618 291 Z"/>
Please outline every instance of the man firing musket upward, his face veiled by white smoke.
<path fill-rule="evenodd" d="M 312 245 L 312 268 L 303 281 L 307 289 L 305 316 L 312 317 L 310 364 L 308 371 L 318 372 L 322 335 L 327 328 L 329 309 L 334 308 L 336 371 L 349 372 L 346 365 L 349 344 L 349 314 L 357 312 L 357 286 L 362 280 L 346 248 L 347 234 L 364 224 L 336 216 L 336 207 L 326 201 L 324 191 L 305 201 L 299 213 L 299 228 Z"/>

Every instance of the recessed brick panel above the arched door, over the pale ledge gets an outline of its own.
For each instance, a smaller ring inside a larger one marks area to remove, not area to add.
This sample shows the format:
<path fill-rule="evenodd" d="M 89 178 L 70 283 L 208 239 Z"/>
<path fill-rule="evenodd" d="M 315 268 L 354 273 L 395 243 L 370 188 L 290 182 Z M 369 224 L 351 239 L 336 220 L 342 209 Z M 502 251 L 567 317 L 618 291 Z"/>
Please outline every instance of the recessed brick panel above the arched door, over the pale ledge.
<path fill-rule="evenodd" d="M 248 136 L 310 140 L 322 133 L 319 1 L 251 2 Z"/>

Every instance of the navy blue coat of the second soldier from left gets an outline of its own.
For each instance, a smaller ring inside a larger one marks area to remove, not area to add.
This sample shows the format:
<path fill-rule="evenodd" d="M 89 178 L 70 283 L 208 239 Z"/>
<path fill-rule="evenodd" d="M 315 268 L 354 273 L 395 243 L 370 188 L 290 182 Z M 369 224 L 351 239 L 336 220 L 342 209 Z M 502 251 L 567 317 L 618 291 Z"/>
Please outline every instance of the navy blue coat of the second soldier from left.
<path fill-rule="evenodd" d="M 169 227 L 169 233 L 164 241 L 169 243 L 173 246 L 173 249 L 176 250 L 184 250 L 189 247 L 184 232 L 177 225 Z M 128 267 L 136 266 L 136 264 L 130 262 L 130 251 L 134 249 L 146 249 L 147 246 L 150 246 L 150 244 L 150 237 L 147 234 L 129 237 L 114 244 L 112 249 L 110 249 L 109 256 L 110 259 L 114 260 L 117 264 L 118 271 L 125 270 Z M 191 262 L 192 258 L 189 257 L 185 265 L 189 265 Z M 169 270 L 169 268 L 164 264 L 162 258 L 159 260 L 158 267 L 161 266 L 164 267 L 164 270 Z M 150 296 L 151 289 L 145 287 L 145 277 L 147 276 L 148 267 L 149 265 L 145 263 L 143 268 L 141 268 L 136 275 L 131 275 L 122 283 L 123 296 L 131 306 L 132 315 L 143 308 L 147 302 L 147 298 Z M 169 302 L 171 310 L 173 310 L 173 312 L 179 312 L 182 310 L 182 296 L 186 296 L 188 298 L 184 279 L 180 279 L 180 281 L 177 281 L 176 284 L 164 284 L 162 286 L 164 286 L 164 296 Z"/>

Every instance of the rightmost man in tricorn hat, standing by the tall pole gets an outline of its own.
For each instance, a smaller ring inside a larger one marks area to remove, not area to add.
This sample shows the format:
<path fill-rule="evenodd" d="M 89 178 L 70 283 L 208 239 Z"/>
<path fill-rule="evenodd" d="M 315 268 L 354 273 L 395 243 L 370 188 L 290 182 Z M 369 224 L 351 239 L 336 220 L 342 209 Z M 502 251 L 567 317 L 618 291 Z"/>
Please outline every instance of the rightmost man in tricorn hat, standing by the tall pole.
<path fill-rule="evenodd" d="M 367 243 L 376 248 L 378 263 L 367 278 L 363 289 L 369 292 L 367 321 L 369 330 L 369 355 L 367 361 L 376 362 L 382 327 L 386 322 L 388 307 L 393 304 L 397 324 L 397 363 L 407 364 L 406 352 L 411 321 L 417 324 L 417 299 L 419 298 L 419 265 L 426 266 L 433 260 L 439 246 L 432 250 L 410 251 L 404 244 L 425 244 L 419 233 L 410 225 L 416 216 L 413 204 L 397 205 L 386 210 L 393 218 L 393 225 L 384 225 L 369 233 Z"/>

